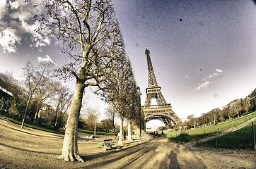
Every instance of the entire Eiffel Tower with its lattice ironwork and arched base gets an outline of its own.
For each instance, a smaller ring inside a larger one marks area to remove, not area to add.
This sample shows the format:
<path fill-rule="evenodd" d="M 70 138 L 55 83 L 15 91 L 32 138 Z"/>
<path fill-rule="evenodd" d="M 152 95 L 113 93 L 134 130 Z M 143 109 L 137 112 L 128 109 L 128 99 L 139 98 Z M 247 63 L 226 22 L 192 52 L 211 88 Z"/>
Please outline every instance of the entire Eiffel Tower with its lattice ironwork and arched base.
<path fill-rule="evenodd" d="M 146 100 L 144 106 L 141 106 L 144 112 L 145 122 L 150 120 L 161 120 L 165 126 L 173 127 L 182 123 L 178 115 L 176 115 L 170 104 L 167 104 L 163 94 L 161 93 L 161 87 L 156 82 L 156 76 L 153 71 L 153 65 L 149 56 L 150 52 L 146 48 L 146 59 L 148 63 L 148 87 L 146 88 Z M 151 105 L 151 99 L 156 99 L 157 105 Z"/>

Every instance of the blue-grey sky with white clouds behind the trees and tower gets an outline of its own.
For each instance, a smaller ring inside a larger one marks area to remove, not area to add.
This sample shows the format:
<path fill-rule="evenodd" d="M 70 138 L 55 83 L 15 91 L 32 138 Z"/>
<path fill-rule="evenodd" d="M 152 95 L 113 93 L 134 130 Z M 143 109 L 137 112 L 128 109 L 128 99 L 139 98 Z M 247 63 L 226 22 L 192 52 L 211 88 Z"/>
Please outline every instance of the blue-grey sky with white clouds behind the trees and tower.
<path fill-rule="evenodd" d="M 112 3 L 136 82 L 141 87 L 142 105 L 148 76 L 146 46 L 163 96 L 182 120 L 191 114 L 198 117 L 221 108 L 256 88 L 253 1 Z M 24 4 L 23 0 L 0 2 L 0 71 L 12 71 L 16 78 L 21 76 L 26 61 L 36 63 L 38 57 L 49 57 L 59 66 L 66 63 L 57 43 L 34 31 L 34 14 L 33 4 Z M 74 82 L 67 85 L 74 89 Z M 95 99 L 92 104 L 102 105 Z"/>

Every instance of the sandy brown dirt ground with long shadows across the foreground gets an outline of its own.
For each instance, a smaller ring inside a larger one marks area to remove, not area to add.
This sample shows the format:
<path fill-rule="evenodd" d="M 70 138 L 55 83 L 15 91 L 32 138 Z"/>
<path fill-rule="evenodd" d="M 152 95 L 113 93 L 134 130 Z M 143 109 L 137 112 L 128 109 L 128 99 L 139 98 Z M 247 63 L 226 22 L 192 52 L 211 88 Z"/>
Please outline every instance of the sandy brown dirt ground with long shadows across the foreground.
<path fill-rule="evenodd" d="M 0 168 L 256 168 L 256 151 L 205 149 L 170 142 L 151 136 L 133 142 L 124 141 L 111 150 L 104 150 L 97 137 L 92 142 L 79 134 L 78 149 L 86 161 L 65 162 L 57 159 L 62 153 L 63 135 L 52 134 L 0 119 Z"/>

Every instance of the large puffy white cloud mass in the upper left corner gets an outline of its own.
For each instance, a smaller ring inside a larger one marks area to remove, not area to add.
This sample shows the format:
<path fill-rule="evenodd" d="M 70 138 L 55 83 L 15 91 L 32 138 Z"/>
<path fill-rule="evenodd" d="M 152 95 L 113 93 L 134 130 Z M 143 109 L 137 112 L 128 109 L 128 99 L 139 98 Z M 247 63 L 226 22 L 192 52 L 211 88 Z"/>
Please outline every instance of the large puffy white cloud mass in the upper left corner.
<path fill-rule="evenodd" d="M 37 2 L 40 0 L 27 3 L 23 0 L 0 1 L 0 19 L 3 18 L 0 20 L 0 47 L 4 53 L 16 52 L 16 46 L 21 44 L 24 35 L 31 47 L 50 45 L 46 32 L 35 32 L 39 23 L 32 22 L 33 16 L 42 11 L 33 7 Z"/>

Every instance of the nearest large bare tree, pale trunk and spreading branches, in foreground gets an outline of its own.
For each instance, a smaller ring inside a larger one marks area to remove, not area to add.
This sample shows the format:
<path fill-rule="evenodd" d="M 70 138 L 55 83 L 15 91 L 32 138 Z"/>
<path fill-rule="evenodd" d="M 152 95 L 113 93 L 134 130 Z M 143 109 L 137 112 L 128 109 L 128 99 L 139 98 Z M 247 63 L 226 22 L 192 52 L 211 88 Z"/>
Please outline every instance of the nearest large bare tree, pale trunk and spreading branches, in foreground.
<path fill-rule="evenodd" d="M 37 15 L 42 29 L 51 27 L 52 35 L 64 46 L 73 62 L 59 69 L 59 75 L 76 78 L 76 89 L 66 123 L 62 155 L 65 161 L 80 160 L 78 154 L 78 118 L 83 91 L 100 87 L 111 76 L 113 60 L 123 46 L 120 27 L 110 0 L 43 0 L 45 14 Z M 121 39 L 121 40 L 120 40 Z"/>

